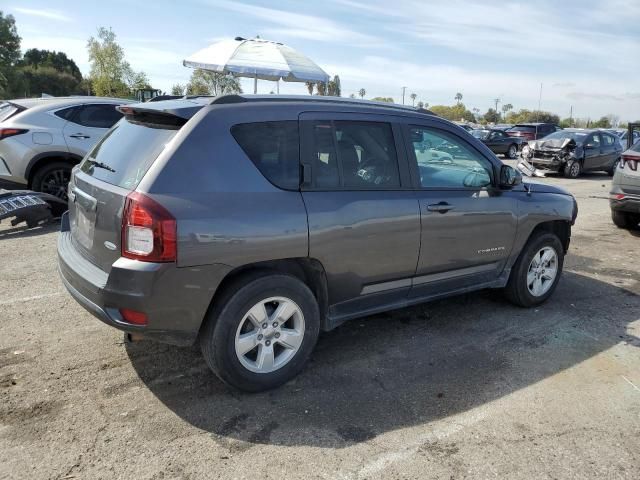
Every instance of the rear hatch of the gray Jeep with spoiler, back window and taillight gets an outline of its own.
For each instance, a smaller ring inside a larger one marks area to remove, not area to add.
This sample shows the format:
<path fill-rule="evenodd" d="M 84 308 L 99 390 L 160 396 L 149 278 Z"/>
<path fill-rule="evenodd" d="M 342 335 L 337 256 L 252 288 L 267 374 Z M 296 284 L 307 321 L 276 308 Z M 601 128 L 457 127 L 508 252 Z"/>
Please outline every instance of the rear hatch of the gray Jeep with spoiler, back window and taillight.
<path fill-rule="evenodd" d="M 169 214 L 134 190 L 182 125 L 202 106 L 200 102 L 175 100 L 118 107 L 125 117 L 74 170 L 69 185 L 72 242 L 103 271 L 109 272 L 123 254 L 148 261 L 175 259 L 175 223 L 172 234 L 171 225 L 163 223 L 170 219 Z M 132 221 L 124 222 L 123 228 L 124 214 Z M 123 248 L 123 239 L 128 248 Z"/>

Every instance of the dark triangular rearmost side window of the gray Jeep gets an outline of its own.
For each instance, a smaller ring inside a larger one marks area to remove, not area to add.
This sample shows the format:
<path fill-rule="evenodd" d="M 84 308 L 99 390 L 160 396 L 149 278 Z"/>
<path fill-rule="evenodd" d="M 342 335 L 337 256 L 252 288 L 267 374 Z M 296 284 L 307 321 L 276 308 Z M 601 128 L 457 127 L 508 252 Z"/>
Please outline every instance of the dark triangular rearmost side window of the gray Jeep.
<path fill-rule="evenodd" d="M 231 134 L 258 170 L 277 187 L 300 186 L 300 141 L 297 121 L 234 125 Z"/>

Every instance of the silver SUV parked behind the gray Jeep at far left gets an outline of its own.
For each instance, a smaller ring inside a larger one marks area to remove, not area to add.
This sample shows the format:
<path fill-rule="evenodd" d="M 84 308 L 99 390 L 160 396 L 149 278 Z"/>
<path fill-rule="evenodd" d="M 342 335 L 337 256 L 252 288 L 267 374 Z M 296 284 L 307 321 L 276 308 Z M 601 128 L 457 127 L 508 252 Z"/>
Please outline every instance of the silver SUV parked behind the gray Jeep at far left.
<path fill-rule="evenodd" d="M 71 169 L 130 100 L 27 98 L 0 103 L 0 181 L 66 199 Z"/>

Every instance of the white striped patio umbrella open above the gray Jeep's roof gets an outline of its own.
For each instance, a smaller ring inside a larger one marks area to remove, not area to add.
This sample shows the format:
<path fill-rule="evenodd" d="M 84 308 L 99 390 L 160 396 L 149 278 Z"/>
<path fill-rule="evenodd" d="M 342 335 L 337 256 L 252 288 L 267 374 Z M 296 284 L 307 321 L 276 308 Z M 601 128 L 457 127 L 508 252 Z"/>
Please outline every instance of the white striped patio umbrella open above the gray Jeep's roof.
<path fill-rule="evenodd" d="M 310 58 L 283 43 L 261 38 L 222 40 L 182 63 L 185 67 L 253 78 L 253 93 L 257 93 L 258 80 L 329 81 L 329 75 Z"/>

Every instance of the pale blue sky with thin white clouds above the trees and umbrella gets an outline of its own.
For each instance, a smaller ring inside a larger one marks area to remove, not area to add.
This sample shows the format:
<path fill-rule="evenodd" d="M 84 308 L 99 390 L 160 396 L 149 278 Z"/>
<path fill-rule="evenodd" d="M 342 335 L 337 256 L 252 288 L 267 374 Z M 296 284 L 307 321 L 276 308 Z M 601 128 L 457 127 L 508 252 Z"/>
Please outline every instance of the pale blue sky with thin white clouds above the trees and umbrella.
<path fill-rule="evenodd" d="M 343 96 L 452 104 L 486 111 L 494 98 L 562 117 L 609 113 L 640 119 L 639 0 L 66 0 L 3 1 L 15 16 L 22 48 L 61 50 L 83 73 L 86 41 L 111 27 L 127 60 L 156 88 L 185 83 L 182 60 L 223 38 L 277 40 L 342 80 Z M 243 81 L 251 91 L 251 81 Z M 275 90 L 260 82 L 259 92 Z M 281 93 L 306 93 L 286 84 Z"/>

